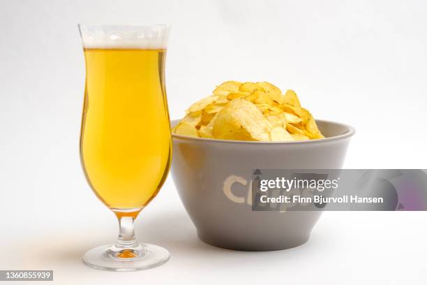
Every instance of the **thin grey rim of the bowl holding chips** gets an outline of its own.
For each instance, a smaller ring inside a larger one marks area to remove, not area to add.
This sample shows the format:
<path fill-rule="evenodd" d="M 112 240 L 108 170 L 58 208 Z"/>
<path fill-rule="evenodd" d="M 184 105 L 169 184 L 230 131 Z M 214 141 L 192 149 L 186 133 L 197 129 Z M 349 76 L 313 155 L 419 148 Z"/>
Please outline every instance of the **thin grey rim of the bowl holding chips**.
<path fill-rule="evenodd" d="M 334 122 L 334 121 L 329 121 L 329 120 L 325 120 L 325 119 L 316 119 L 316 122 L 322 122 L 322 123 L 326 123 L 326 124 L 335 124 L 335 125 L 339 125 L 344 127 L 345 129 L 347 129 L 347 131 L 345 131 L 344 133 L 338 135 L 338 136 L 332 136 L 329 138 L 319 138 L 319 139 L 315 139 L 315 140 L 297 140 L 297 141 L 287 141 L 287 142 L 260 142 L 260 141 L 248 141 L 248 140 L 220 140 L 220 139 L 216 139 L 216 138 L 196 138 L 193 136 L 184 136 L 184 135 L 177 135 L 176 133 L 172 133 L 172 138 L 175 139 L 181 139 L 181 140 L 190 140 L 190 141 L 194 141 L 194 142 L 215 142 L 215 143 L 232 143 L 232 144 L 240 144 L 240 145 L 310 145 L 310 144 L 317 144 L 317 143 L 327 143 L 327 142 L 332 142 L 335 140 L 345 140 L 347 138 L 350 138 L 351 136 L 354 135 L 354 133 L 356 133 L 356 129 L 354 129 L 354 127 L 348 125 L 348 124 L 343 124 L 343 123 L 338 123 L 338 122 Z M 172 119 L 171 121 L 171 126 L 173 126 L 174 124 L 177 124 L 177 122 L 179 122 L 179 119 Z"/>

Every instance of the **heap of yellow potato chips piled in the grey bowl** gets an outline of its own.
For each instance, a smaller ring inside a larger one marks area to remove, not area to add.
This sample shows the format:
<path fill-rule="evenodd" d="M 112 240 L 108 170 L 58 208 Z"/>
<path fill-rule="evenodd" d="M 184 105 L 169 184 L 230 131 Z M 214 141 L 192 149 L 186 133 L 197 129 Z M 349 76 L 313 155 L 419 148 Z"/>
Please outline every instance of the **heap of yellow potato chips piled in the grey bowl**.
<path fill-rule="evenodd" d="M 173 133 L 222 140 L 290 141 L 324 138 L 297 94 L 269 82 L 226 81 L 194 103 Z"/>

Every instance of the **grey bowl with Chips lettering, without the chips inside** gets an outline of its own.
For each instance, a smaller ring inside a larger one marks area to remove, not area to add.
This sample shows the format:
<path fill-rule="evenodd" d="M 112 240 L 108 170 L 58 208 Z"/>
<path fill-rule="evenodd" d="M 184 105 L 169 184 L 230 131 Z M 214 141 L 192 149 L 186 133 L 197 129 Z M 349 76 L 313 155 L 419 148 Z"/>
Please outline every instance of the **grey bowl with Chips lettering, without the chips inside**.
<path fill-rule="evenodd" d="M 252 211 L 253 169 L 341 168 L 354 129 L 317 120 L 321 140 L 245 142 L 172 135 L 172 177 L 200 240 L 226 249 L 269 251 L 304 244 L 320 211 Z M 172 125 L 177 121 L 173 121 Z M 233 183 L 234 182 L 234 183 Z M 232 185 L 233 198 L 227 195 Z"/>

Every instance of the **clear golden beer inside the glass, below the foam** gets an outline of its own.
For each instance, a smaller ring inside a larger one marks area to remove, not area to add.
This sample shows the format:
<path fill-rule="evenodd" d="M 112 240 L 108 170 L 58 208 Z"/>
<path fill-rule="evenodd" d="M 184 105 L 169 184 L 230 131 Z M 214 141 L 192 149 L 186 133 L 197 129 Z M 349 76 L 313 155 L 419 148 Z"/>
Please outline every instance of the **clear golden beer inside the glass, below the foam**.
<path fill-rule="evenodd" d="M 91 188 L 113 209 L 142 208 L 172 158 L 165 50 L 85 48 L 80 155 Z"/>

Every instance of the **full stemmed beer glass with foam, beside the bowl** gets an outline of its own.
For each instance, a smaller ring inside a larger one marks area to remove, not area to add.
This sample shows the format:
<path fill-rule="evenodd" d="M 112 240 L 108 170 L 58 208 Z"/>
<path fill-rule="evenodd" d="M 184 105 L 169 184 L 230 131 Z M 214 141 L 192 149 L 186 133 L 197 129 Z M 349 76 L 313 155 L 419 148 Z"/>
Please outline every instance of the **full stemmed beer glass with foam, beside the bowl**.
<path fill-rule="evenodd" d="M 167 25 L 79 24 L 86 63 L 80 158 L 93 192 L 119 219 L 115 244 L 87 251 L 92 268 L 153 268 L 169 252 L 138 243 L 133 223 L 167 177 L 172 139 L 165 90 Z"/>

